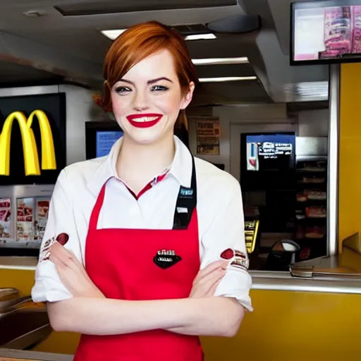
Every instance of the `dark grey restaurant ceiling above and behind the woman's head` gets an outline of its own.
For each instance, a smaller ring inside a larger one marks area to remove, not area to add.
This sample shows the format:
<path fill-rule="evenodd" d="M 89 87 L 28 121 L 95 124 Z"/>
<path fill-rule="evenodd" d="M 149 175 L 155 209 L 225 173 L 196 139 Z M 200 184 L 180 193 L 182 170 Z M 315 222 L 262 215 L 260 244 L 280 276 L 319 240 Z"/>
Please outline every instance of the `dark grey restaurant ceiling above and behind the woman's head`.
<path fill-rule="evenodd" d="M 76 11 L 99 8 L 102 12 L 118 12 L 63 16 L 56 6 L 73 6 Z M 114 8 L 117 6 L 120 8 Z M 149 8 L 159 10 L 149 11 Z M 147 11 L 134 11 L 139 9 Z M 27 11 L 38 11 L 42 16 L 24 16 Z M 192 58 L 247 56 L 250 59 L 250 65 L 197 67 L 202 78 L 257 75 L 259 80 L 202 84 L 194 103 L 327 99 L 326 66 L 288 65 L 289 13 L 290 0 L 1 0 L 0 86 L 56 82 L 61 77 L 99 87 L 102 60 L 111 44 L 100 30 L 147 20 L 159 20 L 167 25 L 207 24 L 252 14 L 262 18 L 260 31 L 217 34 L 216 40 L 188 42 L 188 47 Z"/>

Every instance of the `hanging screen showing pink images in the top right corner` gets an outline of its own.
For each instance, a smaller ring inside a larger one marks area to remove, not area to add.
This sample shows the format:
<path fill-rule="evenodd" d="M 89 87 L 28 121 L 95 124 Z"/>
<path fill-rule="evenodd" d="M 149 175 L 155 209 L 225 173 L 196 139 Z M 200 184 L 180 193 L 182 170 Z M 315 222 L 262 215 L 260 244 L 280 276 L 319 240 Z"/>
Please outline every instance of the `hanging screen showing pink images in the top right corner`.
<path fill-rule="evenodd" d="M 361 61 L 361 0 L 291 4 L 290 64 Z"/>

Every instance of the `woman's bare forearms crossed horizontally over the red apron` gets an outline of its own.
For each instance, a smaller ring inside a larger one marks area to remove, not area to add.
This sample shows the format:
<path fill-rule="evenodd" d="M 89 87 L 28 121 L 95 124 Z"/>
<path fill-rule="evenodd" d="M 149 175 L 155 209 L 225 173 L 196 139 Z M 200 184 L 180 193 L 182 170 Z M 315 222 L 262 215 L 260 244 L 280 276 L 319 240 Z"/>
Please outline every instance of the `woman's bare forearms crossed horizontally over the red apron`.
<path fill-rule="evenodd" d="M 47 305 L 55 331 L 116 335 L 168 329 L 180 334 L 231 336 L 228 316 L 235 319 L 235 308 L 224 314 L 221 312 L 224 306 L 222 298 L 154 301 L 71 298 Z"/>

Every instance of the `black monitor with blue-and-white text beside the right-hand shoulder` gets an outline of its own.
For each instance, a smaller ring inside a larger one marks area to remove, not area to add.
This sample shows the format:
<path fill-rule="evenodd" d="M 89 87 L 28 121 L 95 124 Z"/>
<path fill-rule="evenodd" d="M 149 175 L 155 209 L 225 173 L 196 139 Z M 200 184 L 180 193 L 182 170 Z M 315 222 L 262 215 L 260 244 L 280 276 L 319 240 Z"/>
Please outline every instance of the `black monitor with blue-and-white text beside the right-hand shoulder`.
<path fill-rule="evenodd" d="M 295 133 L 240 135 L 240 183 L 244 190 L 294 187 Z"/>

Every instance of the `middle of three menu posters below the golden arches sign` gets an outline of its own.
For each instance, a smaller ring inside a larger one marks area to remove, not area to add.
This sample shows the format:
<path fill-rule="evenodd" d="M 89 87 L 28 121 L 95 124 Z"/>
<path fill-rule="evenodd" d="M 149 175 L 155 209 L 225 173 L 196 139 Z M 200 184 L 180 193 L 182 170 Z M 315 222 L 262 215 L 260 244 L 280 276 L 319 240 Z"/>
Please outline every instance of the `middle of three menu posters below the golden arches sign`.
<path fill-rule="evenodd" d="M 34 206 L 35 198 L 18 198 L 16 215 L 16 239 L 34 240 Z"/>

